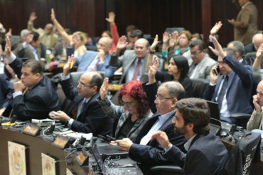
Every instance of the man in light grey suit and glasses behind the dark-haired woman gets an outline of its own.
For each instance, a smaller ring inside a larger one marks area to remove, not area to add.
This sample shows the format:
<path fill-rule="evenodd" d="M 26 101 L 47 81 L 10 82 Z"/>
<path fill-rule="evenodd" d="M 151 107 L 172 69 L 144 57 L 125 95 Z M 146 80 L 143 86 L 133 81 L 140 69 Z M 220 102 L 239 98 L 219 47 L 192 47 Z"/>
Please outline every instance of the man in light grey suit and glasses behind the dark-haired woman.
<path fill-rule="evenodd" d="M 188 77 L 191 79 L 210 79 L 210 70 L 216 64 L 205 50 L 203 40 L 193 40 L 190 43 L 191 62 Z"/>

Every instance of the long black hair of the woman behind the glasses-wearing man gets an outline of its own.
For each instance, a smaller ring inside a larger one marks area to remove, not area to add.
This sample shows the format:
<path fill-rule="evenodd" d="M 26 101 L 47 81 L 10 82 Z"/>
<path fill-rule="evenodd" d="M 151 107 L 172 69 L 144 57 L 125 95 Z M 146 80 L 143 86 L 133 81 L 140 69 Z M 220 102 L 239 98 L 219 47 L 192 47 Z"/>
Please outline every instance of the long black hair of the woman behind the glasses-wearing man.
<path fill-rule="evenodd" d="M 182 55 L 173 54 L 170 57 L 176 63 L 178 70 L 181 72 L 179 81 L 183 80 L 187 76 L 189 71 L 188 60 L 186 59 L 186 57 L 183 57 Z"/>

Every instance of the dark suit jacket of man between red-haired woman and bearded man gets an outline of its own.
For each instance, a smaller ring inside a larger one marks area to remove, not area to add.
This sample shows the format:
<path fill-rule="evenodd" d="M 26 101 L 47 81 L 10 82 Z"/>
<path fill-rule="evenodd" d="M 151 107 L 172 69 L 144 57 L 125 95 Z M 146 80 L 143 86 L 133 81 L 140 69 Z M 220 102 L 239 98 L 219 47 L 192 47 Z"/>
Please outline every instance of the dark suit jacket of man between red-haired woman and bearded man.
<path fill-rule="evenodd" d="M 155 86 L 155 87 L 154 87 Z M 151 94 L 151 96 L 154 96 L 157 93 L 157 84 L 143 84 L 144 91 L 146 91 L 147 98 L 148 95 Z M 152 101 L 154 98 L 150 98 L 151 103 L 154 103 Z M 168 139 L 171 143 L 176 145 L 177 147 L 182 148 L 183 144 L 186 142 L 185 137 L 183 135 L 176 135 L 173 129 L 173 123 L 172 120 L 174 118 L 175 113 L 173 113 L 168 120 L 166 120 L 163 125 L 161 125 L 161 128 L 159 130 L 163 130 L 166 132 L 166 135 L 168 136 Z M 159 145 L 159 142 L 156 140 L 151 140 L 147 143 L 147 145 L 139 145 L 141 142 L 141 138 L 146 135 L 149 130 L 151 130 L 151 127 L 156 123 L 156 120 L 158 119 L 159 115 L 155 113 L 144 125 L 143 128 L 141 128 L 141 131 L 136 137 L 136 140 L 134 144 L 129 149 L 129 157 L 131 159 L 134 159 L 137 162 L 141 162 L 141 164 L 146 164 L 147 166 L 153 166 L 156 164 L 169 164 L 169 162 L 165 159 L 159 159 L 159 154 L 161 154 L 161 150 L 163 150 L 163 147 Z M 171 162 L 170 162 L 171 163 Z M 144 167 L 145 168 L 145 167 Z"/>

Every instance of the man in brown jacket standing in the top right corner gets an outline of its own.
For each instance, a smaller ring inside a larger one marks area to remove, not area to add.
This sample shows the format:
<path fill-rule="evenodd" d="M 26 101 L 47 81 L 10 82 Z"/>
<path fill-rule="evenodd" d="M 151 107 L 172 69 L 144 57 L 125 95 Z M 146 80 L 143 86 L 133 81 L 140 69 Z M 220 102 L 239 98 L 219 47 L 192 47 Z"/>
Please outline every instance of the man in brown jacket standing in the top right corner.
<path fill-rule="evenodd" d="M 234 26 L 234 40 L 247 45 L 257 33 L 257 7 L 249 0 L 239 0 L 238 3 L 241 9 L 236 20 L 231 19 L 228 22 Z"/>

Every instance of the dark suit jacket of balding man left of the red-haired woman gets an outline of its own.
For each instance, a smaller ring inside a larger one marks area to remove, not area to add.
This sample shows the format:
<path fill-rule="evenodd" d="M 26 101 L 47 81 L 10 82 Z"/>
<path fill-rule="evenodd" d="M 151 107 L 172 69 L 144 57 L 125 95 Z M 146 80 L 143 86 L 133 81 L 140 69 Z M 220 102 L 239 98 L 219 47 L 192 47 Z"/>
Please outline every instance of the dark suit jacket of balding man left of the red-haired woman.
<path fill-rule="evenodd" d="M 72 116 L 73 108 L 75 108 L 84 97 L 77 95 L 77 88 L 73 86 L 70 79 L 60 81 L 60 84 L 65 96 L 72 101 L 68 111 L 65 111 L 68 115 Z M 77 132 L 92 132 L 93 135 L 112 134 L 113 119 L 104 113 L 102 107 L 97 102 L 99 96 L 99 93 L 95 94 L 90 98 L 90 101 L 85 104 L 77 120 L 74 120 L 71 125 L 72 130 Z"/>

